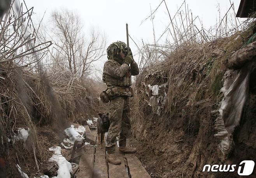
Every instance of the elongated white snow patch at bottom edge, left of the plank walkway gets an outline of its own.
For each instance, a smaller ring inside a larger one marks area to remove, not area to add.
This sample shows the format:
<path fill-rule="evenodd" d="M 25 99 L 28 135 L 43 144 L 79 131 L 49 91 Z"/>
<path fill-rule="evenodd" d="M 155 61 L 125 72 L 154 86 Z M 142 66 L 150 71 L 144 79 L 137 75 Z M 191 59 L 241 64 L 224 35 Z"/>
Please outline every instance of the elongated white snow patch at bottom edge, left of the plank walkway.
<path fill-rule="evenodd" d="M 72 166 L 65 157 L 61 154 L 61 147 L 51 147 L 50 151 L 54 151 L 53 156 L 49 159 L 49 162 L 56 162 L 58 164 L 58 175 L 54 178 L 70 178 L 72 173 Z"/>

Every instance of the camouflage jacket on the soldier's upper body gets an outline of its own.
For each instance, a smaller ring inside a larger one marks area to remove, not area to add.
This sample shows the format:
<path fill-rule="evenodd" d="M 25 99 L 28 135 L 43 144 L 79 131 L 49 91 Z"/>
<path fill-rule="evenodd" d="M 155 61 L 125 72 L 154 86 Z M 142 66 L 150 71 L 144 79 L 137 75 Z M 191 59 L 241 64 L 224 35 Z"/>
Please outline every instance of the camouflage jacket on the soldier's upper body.
<path fill-rule="evenodd" d="M 114 59 L 107 60 L 103 68 L 102 81 L 108 86 L 107 93 L 110 99 L 120 95 L 132 96 L 130 88 L 132 85 L 132 75 L 138 74 L 139 67 L 136 62 L 132 62 L 131 66 L 128 66 L 127 64 L 121 65 Z"/>

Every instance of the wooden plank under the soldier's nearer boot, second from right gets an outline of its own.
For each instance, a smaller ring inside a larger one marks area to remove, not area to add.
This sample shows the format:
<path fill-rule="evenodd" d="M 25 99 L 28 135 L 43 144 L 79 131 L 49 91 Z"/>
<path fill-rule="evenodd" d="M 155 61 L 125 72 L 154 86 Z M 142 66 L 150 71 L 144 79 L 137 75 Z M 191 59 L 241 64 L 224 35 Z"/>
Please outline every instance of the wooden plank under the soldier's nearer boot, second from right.
<path fill-rule="evenodd" d="M 121 164 L 109 164 L 109 178 L 128 178 L 128 174 L 126 173 L 126 169 L 124 166 L 124 154 L 119 152 L 117 145 L 116 156 L 121 160 Z"/>

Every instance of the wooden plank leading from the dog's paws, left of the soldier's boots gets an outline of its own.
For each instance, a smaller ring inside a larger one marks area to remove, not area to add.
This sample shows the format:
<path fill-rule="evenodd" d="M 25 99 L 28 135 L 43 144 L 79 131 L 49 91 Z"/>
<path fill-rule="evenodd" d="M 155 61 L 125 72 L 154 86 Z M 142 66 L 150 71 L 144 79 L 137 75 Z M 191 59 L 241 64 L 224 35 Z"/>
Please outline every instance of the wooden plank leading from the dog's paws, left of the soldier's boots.
<path fill-rule="evenodd" d="M 94 176 L 97 178 L 108 177 L 107 175 L 107 164 L 105 159 L 105 143 L 103 143 L 103 148 L 100 149 L 98 145 L 98 139 L 96 140 L 96 154 L 95 154 L 95 163 L 94 163 Z"/>

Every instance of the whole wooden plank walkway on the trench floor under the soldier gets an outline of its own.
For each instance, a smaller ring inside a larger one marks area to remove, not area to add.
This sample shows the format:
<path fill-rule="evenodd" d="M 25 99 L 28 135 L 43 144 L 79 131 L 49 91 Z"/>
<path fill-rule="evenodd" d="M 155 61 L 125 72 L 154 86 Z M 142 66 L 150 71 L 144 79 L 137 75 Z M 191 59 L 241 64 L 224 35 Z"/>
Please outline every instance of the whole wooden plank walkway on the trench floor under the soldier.
<path fill-rule="evenodd" d="M 150 178 L 135 154 L 122 154 L 116 146 L 116 156 L 121 164 L 107 164 L 105 160 L 105 143 L 99 149 L 97 131 L 86 128 L 86 138 L 95 141 L 96 145 L 87 145 L 80 158 L 80 169 L 76 178 Z"/>

